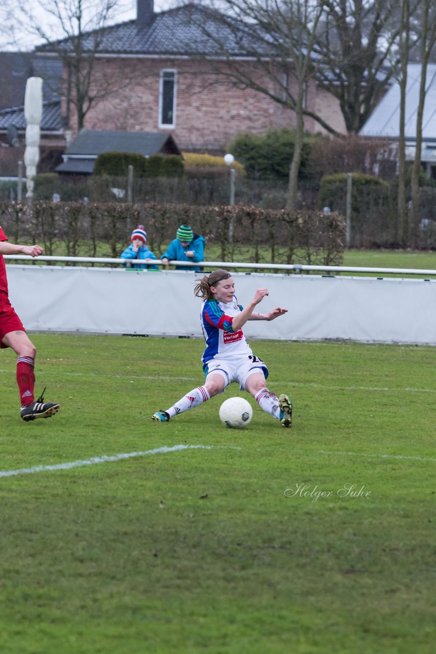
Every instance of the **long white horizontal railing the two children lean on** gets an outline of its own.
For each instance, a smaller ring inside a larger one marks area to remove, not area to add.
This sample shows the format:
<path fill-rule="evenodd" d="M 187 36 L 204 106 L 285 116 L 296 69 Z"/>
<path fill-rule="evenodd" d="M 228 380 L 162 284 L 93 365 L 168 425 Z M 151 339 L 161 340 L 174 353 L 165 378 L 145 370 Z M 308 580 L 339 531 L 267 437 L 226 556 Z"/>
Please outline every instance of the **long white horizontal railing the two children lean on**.
<path fill-rule="evenodd" d="M 148 266 L 161 266 L 162 262 L 160 259 L 157 260 L 148 260 L 145 259 L 118 259 L 110 258 L 104 256 L 48 256 L 42 254 L 38 257 L 31 257 L 27 254 L 3 254 L 5 259 L 10 260 L 24 260 L 24 261 L 58 261 L 58 262 L 74 262 L 76 264 L 119 264 L 121 266 L 126 266 L 127 263 L 131 264 L 148 264 Z M 283 270 L 283 271 L 293 271 L 297 275 L 301 271 L 324 271 L 329 273 L 385 273 L 391 275 L 436 275 L 436 269 L 426 269 L 426 268 L 377 268 L 377 267 L 365 267 L 365 266 L 311 266 L 307 264 L 247 264 L 247 263 L 237 263 L 237 262 L 226 262 L 226 261 L 201 261 L 197 263 L 191 263 L 186 261 L 170 261 L 170 266 L 187 266 L 187 267 L 207 267 L 207 268 L 242 268 L 242 269 L 251 269 L 251 270 Z"/>

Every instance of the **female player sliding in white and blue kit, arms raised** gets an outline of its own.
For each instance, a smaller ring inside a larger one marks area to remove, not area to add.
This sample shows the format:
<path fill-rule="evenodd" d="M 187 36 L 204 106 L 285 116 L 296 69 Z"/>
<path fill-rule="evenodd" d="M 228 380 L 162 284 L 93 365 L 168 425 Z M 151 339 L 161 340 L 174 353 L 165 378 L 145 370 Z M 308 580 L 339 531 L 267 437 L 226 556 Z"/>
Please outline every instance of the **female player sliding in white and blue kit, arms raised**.
<path fill-rule="evenodd" d="M 254 313 L 256 305 L 268 295 L 266 288 L 258 288 L 252 301 L 241 307 L 235 296 L 233 277 L 226 270 L 214 270 L 209 276 L 202 277 L 194 293 L 198 298 L 203 298 L 201 327 L 206 349 L 201 360 L 205 383 L 193 388 L 166 411 L 156 411 L 152 420 L 168 422 L 178 413 L 222 393 L 231 382 L 237 381 L 239 388 L 252 394 L 263 411 L 271 413 L 283 427 L 290 427 L 292 402 L 287 395 L 277 397 L 267 388 L 267 366 L 254 356 L 242 330 L 247 320 L 274 320 L 287 313 L 288 309 L 276 307 L 267 314 Z"/>

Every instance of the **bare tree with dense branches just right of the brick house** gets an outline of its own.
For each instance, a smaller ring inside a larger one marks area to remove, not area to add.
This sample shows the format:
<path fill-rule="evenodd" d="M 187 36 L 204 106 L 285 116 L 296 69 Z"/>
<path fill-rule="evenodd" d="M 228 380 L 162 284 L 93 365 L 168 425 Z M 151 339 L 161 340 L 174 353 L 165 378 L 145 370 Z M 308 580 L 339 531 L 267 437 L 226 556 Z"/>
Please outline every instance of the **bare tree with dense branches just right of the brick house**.
<path fill-rule="evenodd" d="M 358 133 L 386 91 L 386 64 L 397 41 L 398 0 L 320 0 L 322 31 L 316 79 L 341 105 L 346 129 Z"/>

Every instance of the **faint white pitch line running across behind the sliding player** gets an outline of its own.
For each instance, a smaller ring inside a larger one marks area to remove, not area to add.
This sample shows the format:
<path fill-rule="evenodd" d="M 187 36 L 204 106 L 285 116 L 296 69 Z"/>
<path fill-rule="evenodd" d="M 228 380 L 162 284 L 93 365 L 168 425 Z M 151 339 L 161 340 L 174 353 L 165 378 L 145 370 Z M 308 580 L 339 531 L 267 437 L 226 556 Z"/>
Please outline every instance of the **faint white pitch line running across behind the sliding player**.
<path fill-rule="evenodd" d="M 13 374 L 15 372 L 15 368 L 13 370 L 4 370 L 0 369 L 0 374 L 1 373 L 8 373 L 8 374 Z M 56 375 L 56 377 L 101 377 L 101 375 L 95 373 L 95 372 L 66 372 L 66 371 L 48 371 L 48 370 L 38 370 L 37 371 L 38 376 L 39 375 Z M 173 376 L 165 376 L 165 375 L 105 375 L 105 377 L 109 377 L 110 379 L 147 379 L 148 381 L 175 381 L 177 379 L 178 381 L 193 381 L 195 383 L 199 383 L 199 377 L 173 377 Z M 278 383 L 272 383 L 271 386 L 278 386 Z M 280 386 L 292 386 L 292 387 L 301 387 L 301 388 L 320 388 L 320 389 L 326 389 L 326 390 L 367 390 L 370 392 L 374 391 L 382 391 L 382 392 L 390 392 L 390 393 L 397 393 L 397 392 L 413 392 L 413 393 L 436 393 L 436 388 L 388 388 L 388 387 L 377 387 L 377 386 L 327 386 L 325 384 L 316 384 L 312 382 L 299 382 L 299 381 L 286 381 L 284 384 L 280 384 Z"/>

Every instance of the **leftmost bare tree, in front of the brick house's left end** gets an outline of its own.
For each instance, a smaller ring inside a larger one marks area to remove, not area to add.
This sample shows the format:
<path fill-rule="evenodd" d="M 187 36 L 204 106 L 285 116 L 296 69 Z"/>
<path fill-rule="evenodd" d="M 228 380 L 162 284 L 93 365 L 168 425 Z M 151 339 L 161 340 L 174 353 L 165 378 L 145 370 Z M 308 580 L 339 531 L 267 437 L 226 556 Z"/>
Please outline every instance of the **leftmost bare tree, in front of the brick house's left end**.
<path fill-rule="evenodd" d="M 99 84 L 95 84 L 93 73 L 105 30 L 115 18 L 120 0 L 36 0 L 36 5 L 48 15 L 48 21 L 42 23 L 26 6 L 22 9 L 24 29 L 42 40 L 37 53 L 54 54 L 62 61 L 67 124 L 71 120 L 71 104 L 75 107 L 76 129 L 82 129 L 93 103 L 114 90 L 113 79 L 100 76 Z M 53 41 L 53 34 L 63 38 Z M 126 83 L 124 80 L 123 84 Z"/>

